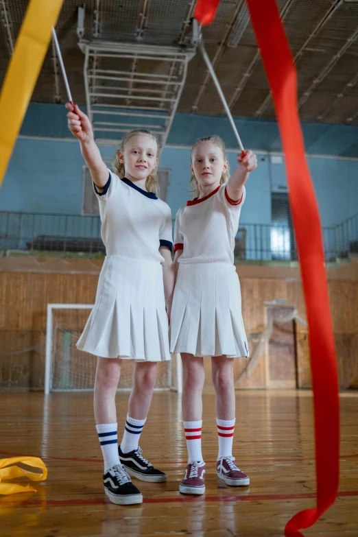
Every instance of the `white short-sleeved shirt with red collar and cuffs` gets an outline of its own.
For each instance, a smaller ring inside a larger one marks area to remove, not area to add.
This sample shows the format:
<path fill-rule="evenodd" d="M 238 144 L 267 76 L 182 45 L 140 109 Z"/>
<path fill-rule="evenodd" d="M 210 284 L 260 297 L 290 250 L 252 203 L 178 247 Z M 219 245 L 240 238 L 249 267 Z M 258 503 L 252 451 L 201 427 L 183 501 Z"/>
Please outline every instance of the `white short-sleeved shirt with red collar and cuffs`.
<path fill-rule="evenodd" d="M 187 202 L 176 213 L 174 249 L 183 248 L 179 263 L 234 263 L 235 235 L 246 197 L 230 200 L 226 184 L 204 198 Z"/>

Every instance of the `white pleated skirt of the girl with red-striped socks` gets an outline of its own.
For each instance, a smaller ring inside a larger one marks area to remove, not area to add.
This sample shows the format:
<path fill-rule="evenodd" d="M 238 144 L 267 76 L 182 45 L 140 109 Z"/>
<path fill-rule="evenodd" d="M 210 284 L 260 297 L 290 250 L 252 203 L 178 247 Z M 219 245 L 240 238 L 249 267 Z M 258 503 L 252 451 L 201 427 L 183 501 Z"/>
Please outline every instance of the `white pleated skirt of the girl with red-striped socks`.
<path fill-rule="evenodd" d="M 248 357 L 235 266 L 179 263 L 170 319 L 171 353 Z"/>

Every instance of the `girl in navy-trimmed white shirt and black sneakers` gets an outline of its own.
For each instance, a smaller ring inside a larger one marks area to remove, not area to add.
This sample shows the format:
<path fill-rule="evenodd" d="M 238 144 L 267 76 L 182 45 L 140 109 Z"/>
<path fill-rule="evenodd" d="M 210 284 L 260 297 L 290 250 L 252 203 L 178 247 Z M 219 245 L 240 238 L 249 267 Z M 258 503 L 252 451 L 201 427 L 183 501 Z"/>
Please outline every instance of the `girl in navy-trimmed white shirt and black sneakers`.
<path fill-rule="evenodd" d="M 113 173 L 101 158 L 88 117 L 77 105 L 66 106 L 69 129 L 80 141 L 91 171 L 106 246 L 95 306 L 77 348 L 98 357 L 94 407 L 104 456 L 104 490 L 112 503 L 141 503 L 142 494 L 128 474 L 156 483 L 167 479 L 141 455 L 139 437 L 152 400 L 156 364 L 170 359 L 171 211 L 156 195 L 154 134 L 127 134 Z M 118 446 L 115 394 L 123 359 L 135 361 L 134 386 Z"/>

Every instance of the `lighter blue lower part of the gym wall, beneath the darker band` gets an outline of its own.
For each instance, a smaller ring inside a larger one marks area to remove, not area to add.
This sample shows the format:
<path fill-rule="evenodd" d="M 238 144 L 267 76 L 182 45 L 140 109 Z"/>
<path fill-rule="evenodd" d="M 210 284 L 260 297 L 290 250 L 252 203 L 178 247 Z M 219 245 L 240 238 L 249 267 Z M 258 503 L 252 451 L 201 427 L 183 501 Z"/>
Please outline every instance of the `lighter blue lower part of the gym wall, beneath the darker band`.
<path fill-rule="evenodd" d="M 111 157 L 113 147 L 101 147 Z M 235 153 L 229 152 L 231 169 Z M 259 167 L 247 183 L 241 222 L 271 223 L 271 192 L 285 191 L 285 167 L 259 155 Z M 171 169 L 167 202 L 173 215 L 191 198 L 190 150 L 167 147 L 160 165 Z M 323 226 L 339 224 L 358 212 L 358 160 L 308 158 Z M 0 211 L 68 213 L 82 211 L 82 166 L 76 141 L 19 139 L 16 143 L 0 195 Z"/>

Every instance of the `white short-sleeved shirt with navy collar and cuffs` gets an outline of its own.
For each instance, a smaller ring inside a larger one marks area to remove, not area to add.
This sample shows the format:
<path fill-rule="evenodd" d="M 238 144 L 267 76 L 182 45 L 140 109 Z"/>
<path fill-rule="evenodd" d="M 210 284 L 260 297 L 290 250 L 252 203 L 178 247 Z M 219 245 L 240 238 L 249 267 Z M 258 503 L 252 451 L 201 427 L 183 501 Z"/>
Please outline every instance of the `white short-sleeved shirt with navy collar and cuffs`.
<path fill-rule="evenodd" d="M 162 263 L 159 246 L 170 250 L 173 246 L 169 205 L 134 182 L 108 172 L 102 193 L 93 184 L 106 254 Z"/>

